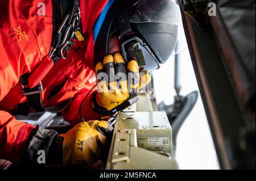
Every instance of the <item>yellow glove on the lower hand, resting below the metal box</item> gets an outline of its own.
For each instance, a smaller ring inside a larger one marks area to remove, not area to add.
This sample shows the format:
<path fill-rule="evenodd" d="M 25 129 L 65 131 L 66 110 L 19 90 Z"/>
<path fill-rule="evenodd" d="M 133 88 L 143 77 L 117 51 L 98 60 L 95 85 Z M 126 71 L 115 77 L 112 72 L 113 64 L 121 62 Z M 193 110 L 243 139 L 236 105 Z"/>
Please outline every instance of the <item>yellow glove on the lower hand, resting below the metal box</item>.
<path fill-rule="evenodd" d="M 112 125 L 106 121 L 89 121 L 61 134 L 64 137 L 63 163 L 92 167 L 100 159 L 112 131 Z"/>

